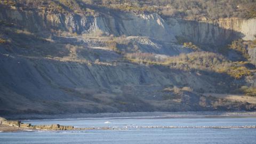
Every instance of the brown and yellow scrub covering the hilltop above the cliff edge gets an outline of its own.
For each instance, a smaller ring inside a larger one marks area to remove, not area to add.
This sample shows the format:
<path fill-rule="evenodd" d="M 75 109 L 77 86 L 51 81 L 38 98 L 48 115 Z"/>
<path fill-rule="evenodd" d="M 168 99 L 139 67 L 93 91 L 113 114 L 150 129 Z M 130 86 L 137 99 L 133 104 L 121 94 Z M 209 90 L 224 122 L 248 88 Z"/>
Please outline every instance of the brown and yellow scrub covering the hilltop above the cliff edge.
<path fill-rule="evenodd" d="M 35 0 L 4 0 L 4 5 L 23 6 L 48 9 L 56 12 L 67 13 L 89 13 L 95 12 L 90 9 L 93 7 L 108 7 L 121 11 L 130 12 L 158 12 L 164 17 L 178 17 L 186 19 L 210 19 L 238 17 L 256 17 L 256 2 L 253 0 L 58 0 L 58 1 L 35 1 Z M 101 9 L 101 8 L 100 8 Z"/>

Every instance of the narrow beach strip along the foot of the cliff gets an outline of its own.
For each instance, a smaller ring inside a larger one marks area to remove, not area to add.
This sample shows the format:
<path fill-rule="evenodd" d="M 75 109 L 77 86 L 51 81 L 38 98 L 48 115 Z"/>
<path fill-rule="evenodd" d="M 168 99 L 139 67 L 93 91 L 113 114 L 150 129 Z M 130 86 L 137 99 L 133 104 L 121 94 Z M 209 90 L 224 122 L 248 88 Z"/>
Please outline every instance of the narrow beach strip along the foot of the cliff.
<path fill-rule="evenodd" d="M 97 114 L 58 114 L 58 115 L 39 115 L 39 114 L 18 114 L 0 115 L 7 119 L 42 120 L 42 119 L 127 119 L 127 118 L 236 118 L 236 117 L 256 117 L 256 111 L 187 111 L 187 112 L 121 112 L 121 113 L 97 113 Z"/>

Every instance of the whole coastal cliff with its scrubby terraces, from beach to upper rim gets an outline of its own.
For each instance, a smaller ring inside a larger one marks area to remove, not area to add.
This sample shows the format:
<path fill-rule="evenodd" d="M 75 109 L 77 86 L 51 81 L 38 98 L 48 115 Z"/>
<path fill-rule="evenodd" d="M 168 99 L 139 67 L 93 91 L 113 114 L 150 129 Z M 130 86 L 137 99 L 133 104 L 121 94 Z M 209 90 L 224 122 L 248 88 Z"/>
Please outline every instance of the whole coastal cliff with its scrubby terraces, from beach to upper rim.
<path fill-rule="evenodd" d="M 0 6 L 0 115 L 256 108 L 204 95 L 254 94 L 255 68 L 214 52 L 251 40 L 255 18 L 192 21 L 91 5 L 85 5 L 91 13 Z M 181 45 L 179 37 L 214 51 Z"/>

